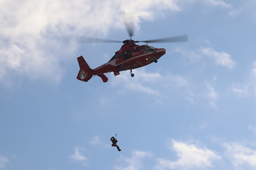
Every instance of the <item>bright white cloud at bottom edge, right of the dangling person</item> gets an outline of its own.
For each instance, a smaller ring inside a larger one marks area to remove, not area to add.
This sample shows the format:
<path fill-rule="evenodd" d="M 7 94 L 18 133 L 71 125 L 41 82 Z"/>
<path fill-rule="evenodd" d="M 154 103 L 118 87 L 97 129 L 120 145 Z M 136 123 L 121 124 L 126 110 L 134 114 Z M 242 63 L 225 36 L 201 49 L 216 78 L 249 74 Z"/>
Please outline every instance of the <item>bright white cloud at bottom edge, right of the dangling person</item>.
<path fill-rule="evenodd" d="M 179 159 L 177 161 L 157 159 L 156 169 L 193 169 L 211 167 L 214 160 L 221 157 L 207 148 L 200 148 L 194 144 L 172 141 L 172 147 Z"/>

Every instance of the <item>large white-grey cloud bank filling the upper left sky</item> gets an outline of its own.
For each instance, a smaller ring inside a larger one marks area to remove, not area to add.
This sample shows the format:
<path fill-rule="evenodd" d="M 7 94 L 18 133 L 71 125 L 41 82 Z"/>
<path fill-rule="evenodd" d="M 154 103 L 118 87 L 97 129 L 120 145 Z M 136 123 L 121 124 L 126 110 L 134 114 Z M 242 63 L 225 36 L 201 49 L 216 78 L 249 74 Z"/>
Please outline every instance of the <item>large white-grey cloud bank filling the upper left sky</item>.
<path fill-rule="evenodd" d="M 76 50 L 76 35 L 106 35 L 110 28 L 124 27 L 119 13 L 131 9 L 137 27 L 155 10 L 180 10 L 175 0 L 14 0 L 2 1 L 1 9 L 1 83 L 23 76 L 58 83 L 65 72 L 61 62 Z"/>

